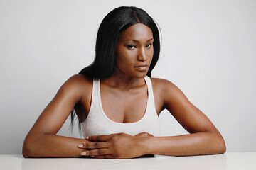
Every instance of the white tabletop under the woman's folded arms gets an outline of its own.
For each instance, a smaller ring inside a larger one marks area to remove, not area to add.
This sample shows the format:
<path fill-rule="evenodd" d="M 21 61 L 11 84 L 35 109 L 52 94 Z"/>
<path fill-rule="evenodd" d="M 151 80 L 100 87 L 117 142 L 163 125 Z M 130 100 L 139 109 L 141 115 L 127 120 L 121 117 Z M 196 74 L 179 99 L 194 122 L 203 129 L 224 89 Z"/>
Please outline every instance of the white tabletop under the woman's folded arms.
<path fill-rule="evenodd" d="M 0 169 L 46 170 L 46 169 L 256 169 L 256 152 L 225 153 L 218 155 L 155 157 L 136 159 L 95 159 L 95 158 L 26 158 L 21 154 L 1 154 Z"/>

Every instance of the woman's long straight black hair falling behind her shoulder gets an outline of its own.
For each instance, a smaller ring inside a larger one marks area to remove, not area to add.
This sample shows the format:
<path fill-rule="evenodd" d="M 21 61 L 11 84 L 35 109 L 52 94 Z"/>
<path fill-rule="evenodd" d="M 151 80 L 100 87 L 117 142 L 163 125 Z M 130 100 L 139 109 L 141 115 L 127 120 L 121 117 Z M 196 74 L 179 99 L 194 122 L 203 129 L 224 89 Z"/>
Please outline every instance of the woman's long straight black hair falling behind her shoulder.
<path fill-rule="evenodd" d="M 85 67 L 79 73 L 84 74 L 90 79 L 106 79 L 111 77 L 115 67 L 115 57 L 117 50 L 117 41 L 119 35 L 129 26 L 136 23 L 143 23 L 151 28 L 153 33 L 154 55 L 147 72 L 147 76 L 151 77 L 151 71 L 154 69 L 159 59 L 160 38 L 159 30 L 154 19 L 149 16 L 146 11 L 134 6 L 121 6 L 110 11 L 100 23 L 97 33 L 95 59 L 90 66 Z M 71 125 L 75 117 L 75 110 L 71 112 Z"/>

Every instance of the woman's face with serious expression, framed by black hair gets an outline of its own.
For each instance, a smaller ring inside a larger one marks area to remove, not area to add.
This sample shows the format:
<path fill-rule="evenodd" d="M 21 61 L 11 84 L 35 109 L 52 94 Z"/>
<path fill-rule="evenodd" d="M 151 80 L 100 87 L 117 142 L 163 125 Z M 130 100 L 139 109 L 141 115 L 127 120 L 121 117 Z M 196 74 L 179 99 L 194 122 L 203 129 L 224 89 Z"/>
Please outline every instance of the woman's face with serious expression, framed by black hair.
<path fill-rule="evenodd" d="M 149 70 L 154 54 L 153 33 L 143 23 L 127 28 L 117 42 L 116 72 L 142 78 Z"/>

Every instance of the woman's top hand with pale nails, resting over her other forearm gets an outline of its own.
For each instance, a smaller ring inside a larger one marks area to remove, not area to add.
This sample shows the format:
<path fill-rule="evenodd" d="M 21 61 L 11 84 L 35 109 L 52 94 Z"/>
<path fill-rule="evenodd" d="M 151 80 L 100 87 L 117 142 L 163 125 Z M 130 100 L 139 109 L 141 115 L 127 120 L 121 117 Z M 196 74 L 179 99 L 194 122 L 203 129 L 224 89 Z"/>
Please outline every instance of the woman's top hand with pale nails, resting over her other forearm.
<path fill-rule="evenodd" d="M 85 144 L 78 147 L 84 148 L 82 156 L 91 156 L 95 158 L 134 158 L 142 156 L 144 147 L 139 145 L 139 135 L 132 136 L 125 133 L 112 135 L 90 136 Z"/>

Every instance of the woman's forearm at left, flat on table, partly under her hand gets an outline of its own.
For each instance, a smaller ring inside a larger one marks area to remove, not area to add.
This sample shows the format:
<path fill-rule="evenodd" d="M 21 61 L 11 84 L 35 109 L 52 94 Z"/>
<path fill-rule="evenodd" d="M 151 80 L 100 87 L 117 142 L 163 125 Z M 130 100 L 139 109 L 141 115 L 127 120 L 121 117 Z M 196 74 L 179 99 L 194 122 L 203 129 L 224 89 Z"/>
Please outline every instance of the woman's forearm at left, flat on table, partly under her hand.
<path fill-rule="evenodd" d="M 37 135 L 27 137 L 23 143 L 23 157 L 80 157 L 78 148 L 87 140 L 58 135 Z"/>

